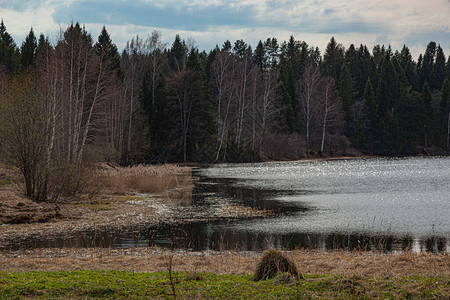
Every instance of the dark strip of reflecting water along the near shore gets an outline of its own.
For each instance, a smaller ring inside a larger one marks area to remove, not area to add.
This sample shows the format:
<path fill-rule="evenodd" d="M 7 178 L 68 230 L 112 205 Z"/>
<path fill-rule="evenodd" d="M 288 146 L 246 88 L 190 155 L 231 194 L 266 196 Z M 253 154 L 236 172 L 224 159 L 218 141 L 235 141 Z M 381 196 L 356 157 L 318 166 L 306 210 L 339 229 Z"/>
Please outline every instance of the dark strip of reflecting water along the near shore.
<path fill-rule="evenodd" d="M 149 228 L 145 234 L 150 246 L 177 249 L 255 251 L 268 248 L 448 252 L 450 240 L 444 237 L 367 236 L 363 234 L 263 234 L 232 230 L 232 223 L 193 223 L 184 226 Z"/>

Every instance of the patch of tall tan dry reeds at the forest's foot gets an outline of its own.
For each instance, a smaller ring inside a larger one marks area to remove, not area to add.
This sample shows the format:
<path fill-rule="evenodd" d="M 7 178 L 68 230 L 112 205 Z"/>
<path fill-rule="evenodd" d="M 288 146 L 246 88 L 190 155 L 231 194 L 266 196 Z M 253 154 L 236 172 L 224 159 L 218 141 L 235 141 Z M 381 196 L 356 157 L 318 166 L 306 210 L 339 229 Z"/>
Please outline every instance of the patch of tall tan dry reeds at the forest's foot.
<path fill-rule="evenodd" d="M 104 189 L 114 194 L 129 192 L 161 194 L 169 189 L 191 187 L 185 180 L 190 168 L 175 165 L 114 167 L 102 165 L 99 175 Z"/>

